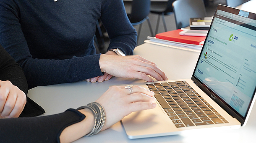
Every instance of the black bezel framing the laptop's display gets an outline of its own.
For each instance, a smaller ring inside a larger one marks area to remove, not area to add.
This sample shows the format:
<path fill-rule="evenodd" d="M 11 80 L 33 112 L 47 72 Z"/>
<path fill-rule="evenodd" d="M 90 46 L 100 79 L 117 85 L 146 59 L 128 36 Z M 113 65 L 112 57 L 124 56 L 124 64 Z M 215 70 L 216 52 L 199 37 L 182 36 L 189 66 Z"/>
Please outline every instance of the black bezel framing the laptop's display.
<path fill-rule="evenodd" d="M 226 12 L 228 12 L 228 13 L 232 13 L 232 14 L 235 14 L 235 15 L 238 15 L 238 14 L 239 14 L 239 11 L 240 11 L 239 9 L 231 8 L 231 7 L 228 7 L 228 6 L 226 6 L 226 5 L 220 5 L 220 4 L 219 4 L 219 5 L 217 6 L 217 9 L 215 10 L 212 23 L 213 23 L 213 21 L 214 21 L 214 18 L 216 17 L 217 10 L 226 11 Z M 249 14 L 249 18 L 250 18 L 250 17 L 256 17 L 256 14 L 250 13 L 250 14 Z M 212 23 L 211 23 L 209 29 L 211 29 Z M 206 37 L 208 37 L 208 34 L 209 34 L 209 32 L 207 33 L 207 36 L 206 36 Z M 205 45 L 205 43 L 206 43 L 206 41 L 204 42 L 204 45 Z M 201 50 L 200 55 L 202 54 L 202 51 L 204 50 L 204 47 L 205 47 L 204 45 L 203 45 L 203 48 L 202 48 L 202 50 Z M 198 64 L 199 64 L 200 57 L 201 57 L 200 55 L 199 55 L 199 59 L 198 59 L 198 61 L 197 61 L 197 63 L 196 63 L 196 67 L 197 67 Z M 222 107 L 227 113 L 229 113 L 232 117 L 236 118 L 236 119 L 241 123 L 241 125 L 243 125 L 243 124 L 245 123 L 245 120 L 246 120 L 247 116 L 248 116 L 248 111 L 250 110 L 250 108 L 252 108 L 251 105 L 252 105 L 253 98 L 255 98 L 254 95 L 255 95 L 255 92 L 256 92 L 256 88 L 254 89 L 254 92 L 253 92 L 251 101 L 250 101 L 250 103 L 249 103 L 249 105 L 248 105 L 248 108 L 247 108 L 247 111 L 246 111 L 246 115 L 245 115 L 245 117 L 243 117 L 242 115 L 240 115 L 240 113 L 238 113 L 238 112 L 237 112 L 235 109 L 233 109 L 229 104 L 227 104 L 224 100 L 222 100 L 222 98 L 220 98 L 216 93 L 214 93 L 214 91 L 212 91 L 211 89 L 209 89 L 203 82 L 201 82 L 201 81 L 195 76 L 196 67 L 195 67 L 195 69 L 194 69 L 194 71 L 193 71 L 193 75 L 192 75 L 191 80 L 193 80 L 194 83 L 195 83 L 197 86 L 199 86 L 199 88 L 200 88 L 201 90 L 203 90 L 210 98 L 212 98 L 220 107 Z"/>

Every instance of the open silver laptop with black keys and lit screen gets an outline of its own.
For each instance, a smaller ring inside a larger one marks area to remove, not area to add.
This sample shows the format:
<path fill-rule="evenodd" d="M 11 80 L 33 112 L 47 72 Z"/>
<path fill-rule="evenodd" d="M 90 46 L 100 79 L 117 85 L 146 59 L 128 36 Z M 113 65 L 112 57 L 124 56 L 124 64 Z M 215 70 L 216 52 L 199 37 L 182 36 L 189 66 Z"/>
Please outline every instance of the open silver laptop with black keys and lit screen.
<path fill-rule="evenodd" d="M 218 5 L 191 79 L 136 83 L 157 107 L 122 119 L 128 138 L 237 129 L 255 102 L 256 14 Z"/>

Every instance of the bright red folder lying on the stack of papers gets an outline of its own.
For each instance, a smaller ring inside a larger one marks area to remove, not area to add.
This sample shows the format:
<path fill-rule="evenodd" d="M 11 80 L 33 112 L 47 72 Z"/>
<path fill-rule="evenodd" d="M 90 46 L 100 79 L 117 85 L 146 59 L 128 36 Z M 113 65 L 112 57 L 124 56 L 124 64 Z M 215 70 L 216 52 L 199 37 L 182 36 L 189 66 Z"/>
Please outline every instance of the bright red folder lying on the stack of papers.
<path fill-rule="evenodd" d="M 200 37 L 200 36 L 183 36 L 179 34 L 180 31 L 182 30 L 177 29 L 177 30 L 167 31 L 164 33 L 159 33 L 156 35 L 156 38 L 180 42 L 180 43 L 195 44 L 195 45 L 200 45 L 200 42 L 204 41 L 206 38 L 206 37 Z"/>

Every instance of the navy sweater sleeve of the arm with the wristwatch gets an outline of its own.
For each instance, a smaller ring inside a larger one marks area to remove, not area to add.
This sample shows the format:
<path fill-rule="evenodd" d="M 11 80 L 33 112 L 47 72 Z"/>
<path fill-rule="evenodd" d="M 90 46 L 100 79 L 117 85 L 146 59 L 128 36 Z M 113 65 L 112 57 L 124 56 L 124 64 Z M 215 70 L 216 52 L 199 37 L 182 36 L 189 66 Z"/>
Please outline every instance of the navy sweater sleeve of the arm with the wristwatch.
<path fill-rule="evenodd" d="M 125 55 L 133 55 L 137 33 L 125 12 L 123 0 L 103 0 L 100 19 L 110 37 L 108 50 L 119 48 Z"/>

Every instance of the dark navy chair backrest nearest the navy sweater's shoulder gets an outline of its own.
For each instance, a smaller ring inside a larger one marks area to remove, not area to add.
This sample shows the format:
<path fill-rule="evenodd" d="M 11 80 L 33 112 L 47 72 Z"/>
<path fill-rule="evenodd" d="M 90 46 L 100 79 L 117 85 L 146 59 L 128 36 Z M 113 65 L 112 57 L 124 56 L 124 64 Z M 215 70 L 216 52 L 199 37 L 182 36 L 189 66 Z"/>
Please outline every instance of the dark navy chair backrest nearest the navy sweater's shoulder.
<path fill-rule="evenodd" d="M 146 18 L 150 12 L 150 0 L 133 0 L 131 8 L 131 23 L 137 23 Z"/>

